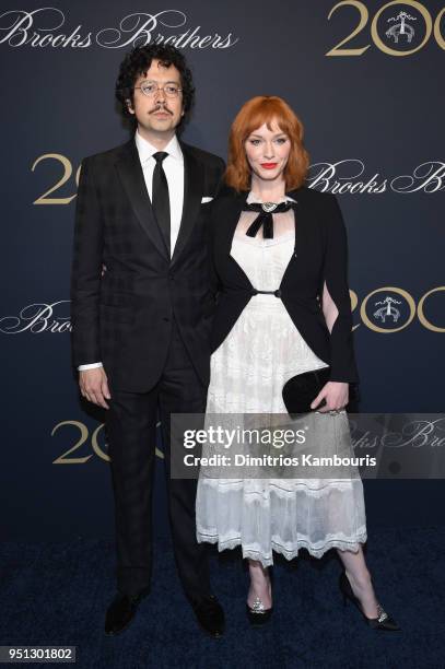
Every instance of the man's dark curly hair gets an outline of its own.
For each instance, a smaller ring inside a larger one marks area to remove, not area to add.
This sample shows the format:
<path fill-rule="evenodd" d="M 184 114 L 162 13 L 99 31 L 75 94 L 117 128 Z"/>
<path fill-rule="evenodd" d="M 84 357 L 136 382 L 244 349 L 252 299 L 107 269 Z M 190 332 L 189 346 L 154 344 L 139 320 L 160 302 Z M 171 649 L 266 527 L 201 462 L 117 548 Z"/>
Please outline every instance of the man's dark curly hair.
<path fill-rule="evenodd" d="M 134 83 L 140 74 L 144 74 L 152 63 L 152 60 L 160 60 L 161 63 L 169 68 L 172 64 L 179 71 L 180 87 L 183 89 L 184 116 L 177 127 L 177 131 L 184 128 L 188 120 L 195 103 L 195 86 L 191 71 L 187 67 L 183 54 L 174 46 L 166 44 L 150 44 L 147 46 L 134 47 L 124 58 L 119 67 L 119 74 L 116 81 L 116 98 L 119 102 L 120 111 L 125 120 L 129 121 L 132 128 L 138 125 L 133 114 L 127 107 L 127 99 L 133 104 Z"/>

